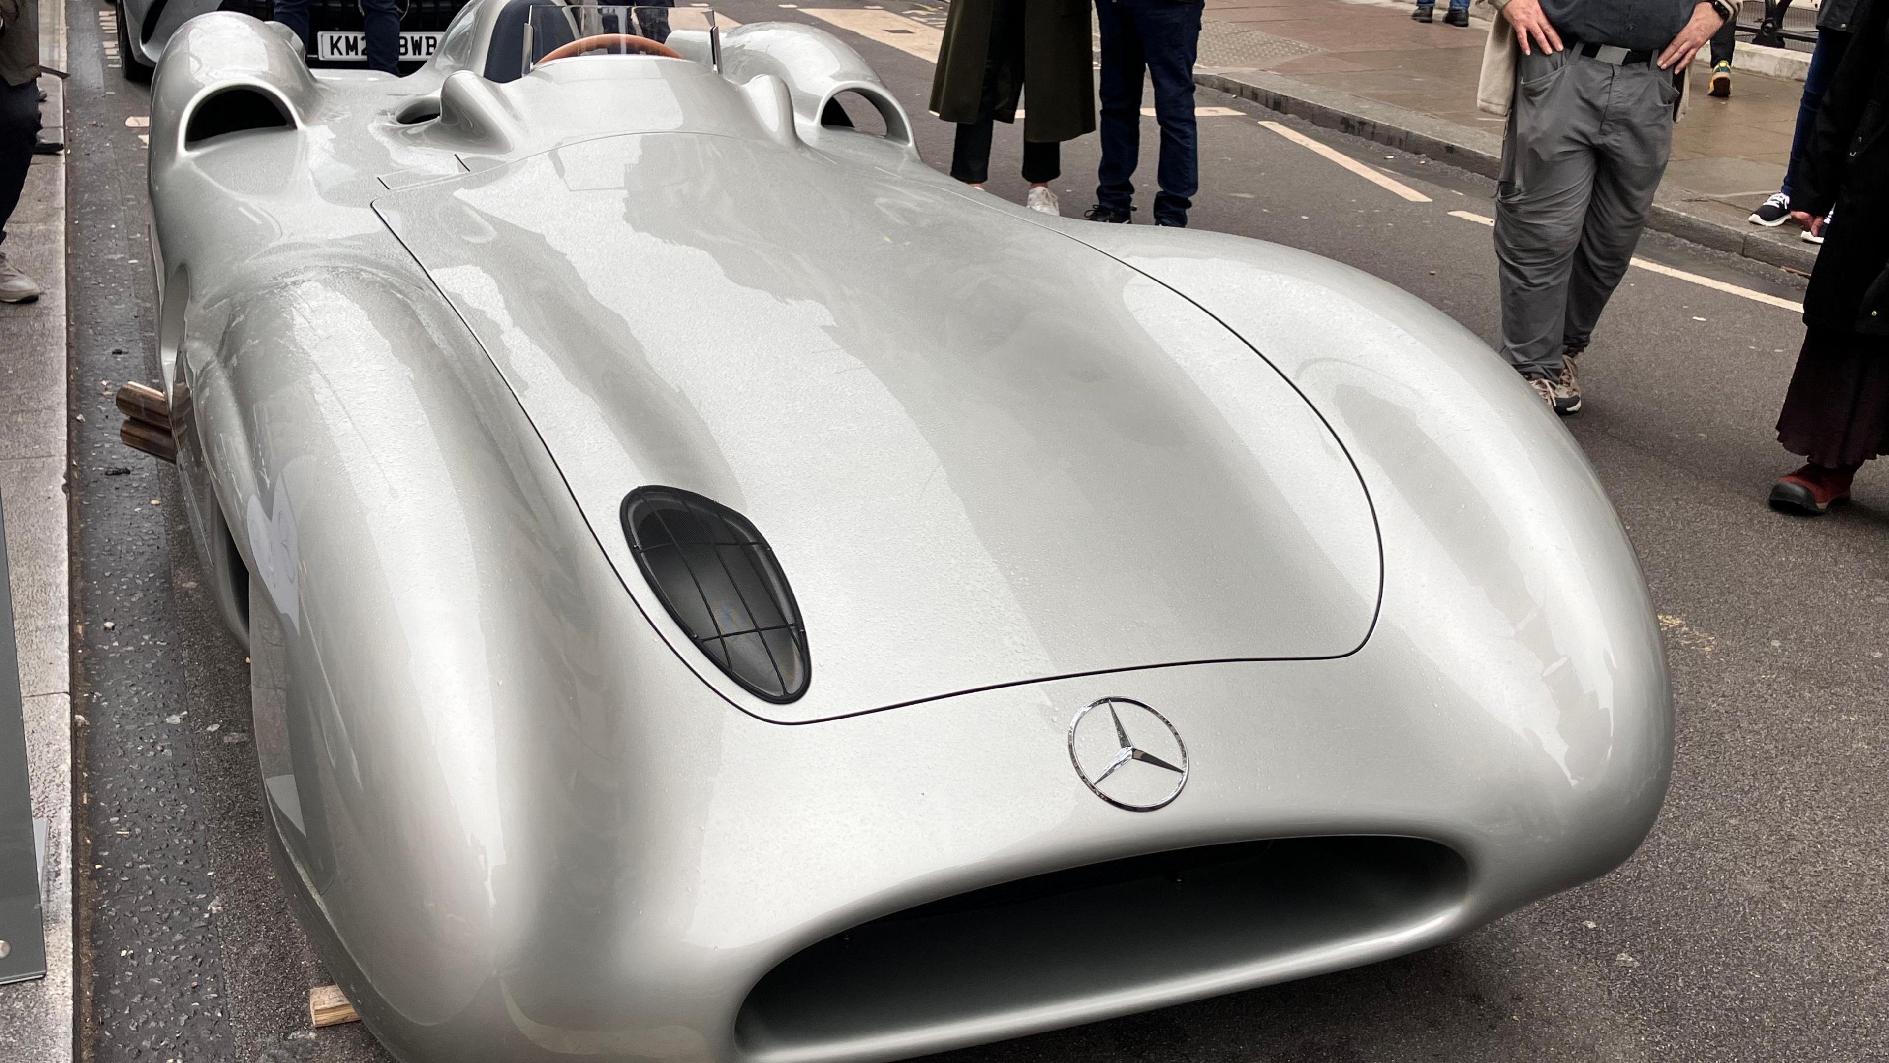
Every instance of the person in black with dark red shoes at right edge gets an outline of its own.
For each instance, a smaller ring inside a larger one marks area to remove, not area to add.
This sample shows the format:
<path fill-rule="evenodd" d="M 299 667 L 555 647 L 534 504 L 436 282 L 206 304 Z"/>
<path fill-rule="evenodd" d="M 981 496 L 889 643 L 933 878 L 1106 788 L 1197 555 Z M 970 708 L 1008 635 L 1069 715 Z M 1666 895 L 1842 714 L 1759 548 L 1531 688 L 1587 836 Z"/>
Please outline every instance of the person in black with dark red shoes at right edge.
<path fill-rule="evenodd" d="M 1770 503 L 1808 514 L 1849 497 L 1857 469 L 1889 454 L 1889 0 L 1870 0 L 1851 25 L 1793 202 L 1812 233 L 1844 208 L 1804 291 L 1804 350 L 1778 414 L 1778 443 L 1806 463 Z"/>

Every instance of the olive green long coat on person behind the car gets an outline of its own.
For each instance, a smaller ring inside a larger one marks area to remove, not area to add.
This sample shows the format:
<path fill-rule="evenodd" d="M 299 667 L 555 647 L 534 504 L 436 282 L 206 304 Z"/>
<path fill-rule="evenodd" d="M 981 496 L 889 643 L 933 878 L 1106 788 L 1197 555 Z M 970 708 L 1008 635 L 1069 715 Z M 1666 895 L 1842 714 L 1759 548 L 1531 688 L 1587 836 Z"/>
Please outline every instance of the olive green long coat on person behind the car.
<path fill-rule="evenodd" d="M 1062 142 L 1096 131 L 1096 72 L 1090 0 L 1014 0 L 1024 4 L 1024 78 L 997 85 L 990 117 L 1016 121 L 1024 85 L 1024 140 Z M 952 0 L 931 78 L 931 110 L 944 121 L 979 121 L 984 62 L 990 55 L 994 0 Z"/>

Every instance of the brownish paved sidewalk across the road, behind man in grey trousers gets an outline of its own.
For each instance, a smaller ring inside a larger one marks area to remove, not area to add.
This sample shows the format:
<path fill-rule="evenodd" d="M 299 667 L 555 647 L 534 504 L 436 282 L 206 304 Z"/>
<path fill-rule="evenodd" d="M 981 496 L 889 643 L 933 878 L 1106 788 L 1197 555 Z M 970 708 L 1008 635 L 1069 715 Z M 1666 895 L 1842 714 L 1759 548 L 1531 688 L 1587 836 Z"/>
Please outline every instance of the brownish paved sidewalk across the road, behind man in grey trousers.
<path fill-rule="evenodd" d="M 1196 79 L 1494 176 L 1502 121 L 1475 110 L 1487 38 L 1483 19 L 1413 23 L 1392 0 L 1207 0 Z M 1795 223 L 1745 221 L 1783 182 L 1802 81 L 1734 66 L 1732 96 L 1715 100 L 1706 76 L 1702 51 L 1653 227 L 1808 270 L 1815 248 Z"/>

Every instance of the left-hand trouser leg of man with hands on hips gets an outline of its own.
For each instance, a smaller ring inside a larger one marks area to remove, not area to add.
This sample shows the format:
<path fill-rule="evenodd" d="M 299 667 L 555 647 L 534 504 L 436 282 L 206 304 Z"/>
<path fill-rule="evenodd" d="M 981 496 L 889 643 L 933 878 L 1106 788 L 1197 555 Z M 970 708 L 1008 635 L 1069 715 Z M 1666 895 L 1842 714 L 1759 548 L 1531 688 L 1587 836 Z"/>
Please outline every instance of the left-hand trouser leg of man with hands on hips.
<path fill-rule="evenodd" d="M 1568 278 L 1594 182 L 1606 70 L 1566 51 L 1524 55 L 1517 68 L 1496 183 L 1496 278 L 1502 357 L 1530 380 L 1562 369 Z"/>

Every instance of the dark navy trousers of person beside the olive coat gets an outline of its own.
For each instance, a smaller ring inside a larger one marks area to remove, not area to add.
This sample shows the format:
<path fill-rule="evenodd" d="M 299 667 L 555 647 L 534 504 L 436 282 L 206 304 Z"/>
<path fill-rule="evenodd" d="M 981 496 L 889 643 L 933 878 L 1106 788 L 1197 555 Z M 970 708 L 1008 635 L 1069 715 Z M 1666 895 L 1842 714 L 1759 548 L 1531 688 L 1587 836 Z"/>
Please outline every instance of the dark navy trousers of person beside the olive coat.
<path fill-rule="evenodd" d="M 1175 0 L 1096 0 L 1101 26 L 1101 172 L 1096 202 L 1128 210 L 1141 159 L 1141 81 L 1154 81 L 1154 121 L 1162 127 L 1154 221 L 1186 225 L 1200 191 L 1194 129 L 1194 57 L 1203 4 Z"/>

